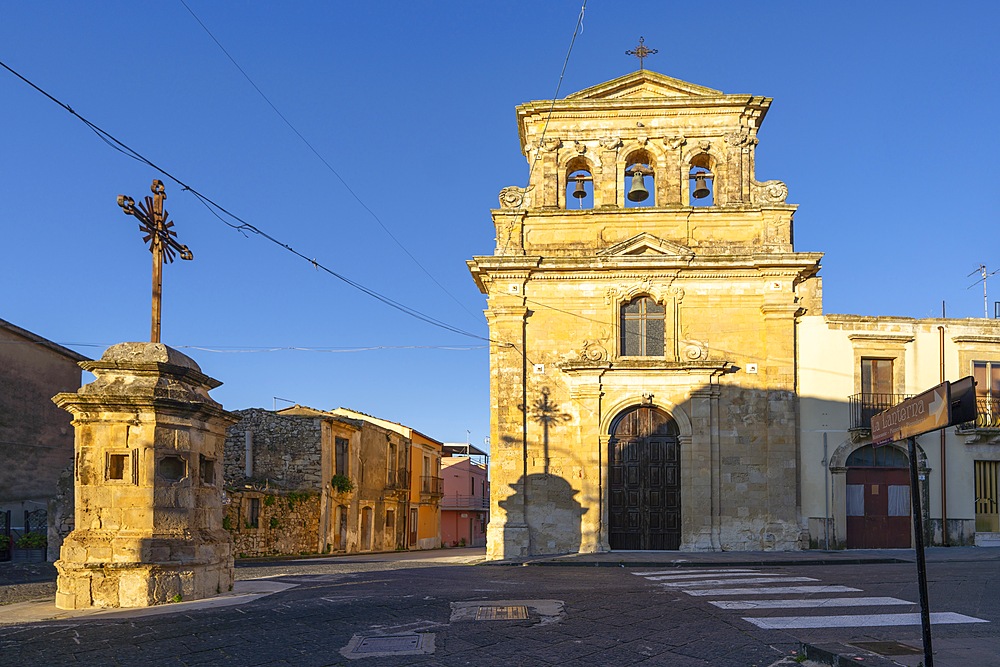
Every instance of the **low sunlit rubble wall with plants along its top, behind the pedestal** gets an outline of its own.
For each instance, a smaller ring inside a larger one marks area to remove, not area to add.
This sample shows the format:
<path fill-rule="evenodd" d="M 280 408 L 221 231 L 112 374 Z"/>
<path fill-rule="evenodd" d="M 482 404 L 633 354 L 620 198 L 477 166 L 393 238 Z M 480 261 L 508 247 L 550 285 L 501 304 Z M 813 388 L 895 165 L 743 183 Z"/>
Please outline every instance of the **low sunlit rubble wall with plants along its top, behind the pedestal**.
<path fill-rule="evenodd" d="M 233 553 L 238 558 L 318 552 L 319 494 L 228 491 L 227 496 L 223 527 L 233 537 Z"/>

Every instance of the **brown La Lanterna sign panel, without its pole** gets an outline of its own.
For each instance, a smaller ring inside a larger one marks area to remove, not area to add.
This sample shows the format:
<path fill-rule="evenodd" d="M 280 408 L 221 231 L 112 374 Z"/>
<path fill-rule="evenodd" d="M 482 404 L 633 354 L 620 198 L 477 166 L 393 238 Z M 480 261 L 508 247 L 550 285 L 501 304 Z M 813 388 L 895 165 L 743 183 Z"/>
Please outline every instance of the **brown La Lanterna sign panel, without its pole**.
<path fill-rule="evenodd" d="M 872 444 L 884 445 L 976 419 L 976 382 L 942 382 L 872 417 Z"/>

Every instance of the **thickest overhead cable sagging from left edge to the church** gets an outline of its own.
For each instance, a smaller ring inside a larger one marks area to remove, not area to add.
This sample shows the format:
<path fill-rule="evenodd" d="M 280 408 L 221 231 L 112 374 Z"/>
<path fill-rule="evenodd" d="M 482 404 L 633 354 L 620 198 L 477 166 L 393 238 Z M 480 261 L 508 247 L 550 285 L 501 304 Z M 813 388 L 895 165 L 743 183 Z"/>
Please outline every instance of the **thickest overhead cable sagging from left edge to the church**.
<path fill-rule="evenodd" d="M 167 171 L 163 167 L 157 165 L 152 160 L 150 160 L 149 158 L 147 158 L 143 154 L 139 153 L 137 150 L 135 150 L 134 148 L 132 148 L 128 144 L 120 141 L 119 139 L 117 139 L 115 136 L 113 136 L 109 132 L 105 131 L 104 129 L 100 128 L 99 126 L 97 126 L 96 124 L 92 123 L 88 119 L 84 118 L 82 115 L 80 115 L 79 113 L 77 113 L 73 109 L 73 107 L 71 107 L 70 105 L 66 104 L 65 102 L 62 102 L 61 100 L 57 99 L 53 95 L 49 94 L 47 91 L 43 90 L 40 86 L 36 85 L 32 81 L 30 81 L 28 78 L 26 78 L 25 76 L 23 76 L 22 74 L 20 74 L 19 72 L 17 72 L 13 68 L 11 68 L 5 62 L 0 61 L 0 67 L 3 67 L 8 72 L 10 72 L 14 76 L 16 76 L 18 79 L 20 79 L 21 81 L 23 81 L 24 83 L 28 84 L 29 86 L 31 86 L 32 88 L 34 88 L 36 91 L 38 91 L 39 93 L 41 93 L 42 95 L 44 95 L 45 97 L 47 97 L 49 100 L 51 100 L 55 104 L 59 105 L 60 107 L 62 107 L 66 111 L 68 111 L 71 115 L 73 115 L 75 118 L 77 118 L 78 120 L 80 120 L 84 125 L 86 125 L 88 128 L 90 128 L 102 141 L 104 141 L 106 144 L 108 144 L 109 146 L 111 146 L 115 150 L 119 151 L 120 153 L 122 153 L 124 155 L 127 155 L 128 157 L 130 157 L 130 158 L 132 158 L 132 159 L 134 159 L 134 160 L 136 160 L 138 162 L 141 162 L 141 163 L 143 163 L 143 164 L 145 164 L 145 165 L 147 165 L 147 166 L 155 169 L 158 172 L 160 172 L 166 178 L 169 178 L 174 183 L 177 183 L 178 185 L 180 185 L 181 188 L 183 188 L 185 191 L 190 192 L 192 195 L 194 195 L 195 197 L 197 197 L 210 210 L 214 209 L 213 213 L 215 213 L 216 211 L 218 211 L 218 213 L 222 213 L 223 215 L 229 217 L 232 220 L 235 220 L 238 223 L 238 224 L 233 224 L 231 222 L 227 222 L 221 216 L 219 216 L 218 213 L 216 213 L 216 217 L 218 217 L 227 226 L 232 227 L 233 229 L 236 229 L 236 230 L 238 230 L 240 232 L 252 232 L 254 234 L 257 234 L 258 236 L 261 236 L 261 237 L 267 239 L 271 243 L 274 243 L 275 245 L 284 248 L 285 250 L 287 250 L 288 252 L 292 253 L 296 257 L 304 259 L 305 261 L 309 262 L 309 264 L 311 264 L 317 270 L 321 270 L 321 271 L 324 271 L 325 273 L 330 274 L 334 278 L 337 278 L 338 280 L 346 283 L 347 285 L 350 285 L 351 287 L 353 287 L 354 289 L 358 290 L 359 292 L 367 294 L 368 296 L 372 297 L 373 299 L 382 302 L 383 304 L 389 306 L 390 308 L 395 308 L 396 310 L 400 311 L 401 313 L 409 315 L 410 317 L 412 317 L 414 319 L 420 320 L 420 321 L 422 321 L 422 322 L 424 322 L 426 324 L 430 324 L 431 326 L 435 326 L 435 327 L 438 327 L 440 329 L 444 329 L 446 331 L 451 331 L 452 333 L 456 333 L 456 334 L 459 334 L 461 336 L 467 336 L 469 338 L 476 338 L 478 340 L 483 340 L 483 341 L 488 341 L 489 340 L 489 338 L 486 338 L 484 336 L 480 336 L 479 334 L 475 334 L 475 333 L 472 333 L 470 331 L 466 331 L 464 329 L 460 329 L 459 327 L 453 326 L 453 325 L 448 324 L 448 323 L 446 323 L 446 322 L 444 322 L 442 320 L 439 320 L 437 318 L 431 317 L 430 315 L 422 313 L 421 311 L 416 310 L 415 308 L 411 308 L 410 306 L 407 306 L 407 305 L 405 305 L 405 304 L 403 304 L 403 303 L 401 303 L 399 301 L 395 301 L 394 299 L 391 299 L 388 296 L 385 296 L 384 294 L 381 294 L 381 293 L 379 293 L 379 292 L 377 292 L 377 291 L 375 291 L 375 290 L 373 290 L 373 289 L 371 289 L 369 287 L 366 287 L 365 285 L 362 285 L 361 283 L 359 283 L 357 281 L 351 280 L 347 276 L 344 276 L 344 275 L 342 275 L 340 273 L 337 273 L 333 269 L 331 269 L 331 268 L 323 265 L 319 261 L 317 261 L 315 258 L 311 258 L 311 257 L 308 257 L 307 255 L 304 255 L 303 253 L 299 252 L 298 250 L 296 250 L 295 248 L 291 247 L 287 243 L 279 241 L 277 238 L 271 236 L 270 234 L 268 234 L 267 232 L 263 231 L 259 227 L 257 227 L 255 225 L 251 224 L 250 222 L 244 220 L 243 218 L 241 218 L 240 216 L 236 215 L 235 213 L 232 213 L 231 211 L 229 211 L 228 209 L 226 209 L 225 207 L 223 207 L 221 204 L 216 203 L 215 201 L 213 201 L 208 196 L 202 194 L 201 192 L 199 192 L 198 190 L 196 190 L 192 186 L 188 185 L 186 182 L 184 182 L 183 180 L 181 180 L 179 177 L 174 176 L 172 173 L 170 173 L 169 171 Z"/>

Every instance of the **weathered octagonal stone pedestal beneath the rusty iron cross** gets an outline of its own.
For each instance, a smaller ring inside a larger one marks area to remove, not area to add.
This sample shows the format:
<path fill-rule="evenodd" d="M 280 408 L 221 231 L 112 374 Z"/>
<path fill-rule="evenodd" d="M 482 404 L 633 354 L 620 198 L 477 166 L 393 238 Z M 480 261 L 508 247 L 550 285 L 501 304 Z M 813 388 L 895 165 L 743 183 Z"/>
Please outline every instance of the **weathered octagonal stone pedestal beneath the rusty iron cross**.
<path fill-rule="evenodd" d="M 76 523 L 56 562 L 56 606 L 146 607 L 230 590 L 222 456 L 236 420 L 208 395 L 221 383 L 160 343 L 119 343 L 80 365 L 94 382 L 53 398 L 76 430 Z"/>

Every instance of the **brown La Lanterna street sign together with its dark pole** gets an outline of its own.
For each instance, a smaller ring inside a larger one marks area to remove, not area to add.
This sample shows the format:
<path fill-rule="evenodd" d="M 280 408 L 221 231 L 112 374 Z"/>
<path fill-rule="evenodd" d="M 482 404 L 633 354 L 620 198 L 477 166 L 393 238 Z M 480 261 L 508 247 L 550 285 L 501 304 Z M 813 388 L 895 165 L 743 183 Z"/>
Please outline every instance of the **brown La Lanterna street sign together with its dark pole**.
<path fill-rule="evenodd" d="M 910 505 L 913 514 L 913 545 L 917 556 L 917 586 L 920 591 L 920 627 L 924 640 L 924 667 L 934 667 L 931 647 L 931 614 L 927 600 L 927 563 L 924 559 L 924 521 L 920 508 L 917 475 L 917 436 L 976 419 L 976 382 L 964 377 L 942 382 L 922 394 L 897 403 L 872 417 L 872 445 L 906 439 L 910 458 Z M 947 526 L 943 530 L 948 530 Z"/>

